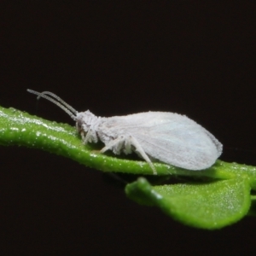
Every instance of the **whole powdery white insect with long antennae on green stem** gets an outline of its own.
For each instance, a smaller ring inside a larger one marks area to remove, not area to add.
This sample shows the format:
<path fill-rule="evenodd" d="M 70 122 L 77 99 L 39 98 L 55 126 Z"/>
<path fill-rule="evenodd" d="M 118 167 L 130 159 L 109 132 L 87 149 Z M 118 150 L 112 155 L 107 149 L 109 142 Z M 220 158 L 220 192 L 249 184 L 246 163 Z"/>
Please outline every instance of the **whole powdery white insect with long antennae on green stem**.
<path fill-rule="evenodd" d="M 222 144 L 205 128 L 192 119 L 168 112 L 144 112 L 109 118 L 78 112 L 59 96 L 49 92 L 27 90 L 38 99 L 55 103 L 76 121 L 83 143 L 105 144 L 101 153 L 136 152 L 157 174 L 151 160 L 160 160 L 188 170 L 203 170 L 212 166 L 222 153 Z"/>

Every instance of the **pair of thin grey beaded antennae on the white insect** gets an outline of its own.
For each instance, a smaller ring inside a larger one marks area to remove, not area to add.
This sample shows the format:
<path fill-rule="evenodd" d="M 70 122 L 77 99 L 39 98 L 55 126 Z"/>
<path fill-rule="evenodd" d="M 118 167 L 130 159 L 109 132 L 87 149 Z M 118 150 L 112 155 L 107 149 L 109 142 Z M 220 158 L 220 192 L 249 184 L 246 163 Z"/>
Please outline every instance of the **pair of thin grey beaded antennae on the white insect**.
<path fill-rule="evenodd" d="M 67 102 L 64 102 L 59 96 L 56 96 L 54 93 L 50 91 L 43 91 L 43 92 L 38 92 L 35 90 L 30 90 L 27 89 L 28 92 L 37 95 L 37 99 L 39 100 L 40 97 L 48 100 L 49 102 L 53 102 L 55 105 L 57 105 L 59 108 L 64 110 L 68 115 L 71 116 L 72 119 L 76 120 L 76 114 L 78 113 L 77 110 L 75 110 L 73 107 L 71 107 Z M 49 95 L 49 96 L 47 96 Z M 51 97 L 50 97 L 51 96 Z"/>

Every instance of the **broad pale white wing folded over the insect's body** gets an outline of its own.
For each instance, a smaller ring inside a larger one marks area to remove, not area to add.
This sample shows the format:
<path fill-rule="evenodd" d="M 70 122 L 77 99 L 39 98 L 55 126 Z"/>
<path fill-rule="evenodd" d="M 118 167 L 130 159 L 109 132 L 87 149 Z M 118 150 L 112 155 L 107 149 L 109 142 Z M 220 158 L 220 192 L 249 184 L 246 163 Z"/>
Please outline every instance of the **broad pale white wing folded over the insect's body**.
<path fill-rule="evenodd" d="M 222 144 L 209 131 L 177 113 L 116 116 L 106 119 L 102 125 L 108 136 L 131 135 L 148 156 L 189 170 L 212 166 L 222 153 Z"/>

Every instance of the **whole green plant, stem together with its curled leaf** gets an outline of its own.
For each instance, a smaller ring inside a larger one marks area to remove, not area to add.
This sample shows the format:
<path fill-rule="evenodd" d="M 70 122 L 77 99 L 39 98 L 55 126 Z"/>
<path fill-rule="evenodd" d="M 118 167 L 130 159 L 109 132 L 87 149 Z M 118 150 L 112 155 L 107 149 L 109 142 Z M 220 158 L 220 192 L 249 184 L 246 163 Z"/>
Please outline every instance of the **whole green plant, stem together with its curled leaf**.
<path fill-rule="evenodd" d="M 140 175 L 125 187 L 126 195 L 145 206 L 160 207 L 167 215 L 191 226 L 219 229 L 236 223 L 248 212 L 254 214 L 256 168 L 218 160 L 205 170 L 191 172 L 155 163 L 158 176 L 165 180 L 183 178 L 176 184 L 152 185 L 145 178 L 152 169 L 144 161 L 124 160 L 99 154 L 96 145 L 83 145 L 74 127 L 57 124 L 14 108 L 0 107 L 0 144 L 40 148 L 61 154 L 102 172 Z M 250 210 L 251 209 L 251 210 Z"/>

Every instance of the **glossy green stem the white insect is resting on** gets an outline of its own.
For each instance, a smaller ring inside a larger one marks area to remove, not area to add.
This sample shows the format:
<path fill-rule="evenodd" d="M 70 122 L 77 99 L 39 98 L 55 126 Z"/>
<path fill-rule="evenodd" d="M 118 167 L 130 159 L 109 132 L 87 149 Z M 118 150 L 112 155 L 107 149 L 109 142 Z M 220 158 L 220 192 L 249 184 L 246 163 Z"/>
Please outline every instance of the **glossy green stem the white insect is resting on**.
<path fill-rule="evenodd" d="M 0 107 L 0 144 L 40 148 L 103 172 L 153 175 L 152 169 L 143 160 L 127 160 L 129 156 L 114 155 L 111 152 L 99 154 L 102 145 L 84 145 L 73 126 L 50 122 L 15 108 Z M 256 188 L 256 168 L 253 166 L 225 163 L 220 160 L 217 160 L 211 168 L 196 172 L 163 163 L 154 163 L 154 166 L 158 175 L 220 179 L 246 176 L 252 188 Z"/>

